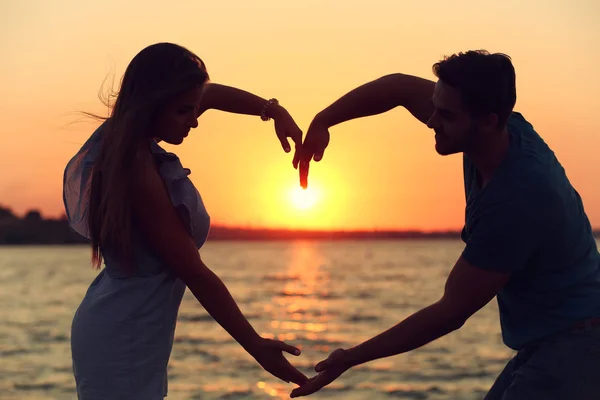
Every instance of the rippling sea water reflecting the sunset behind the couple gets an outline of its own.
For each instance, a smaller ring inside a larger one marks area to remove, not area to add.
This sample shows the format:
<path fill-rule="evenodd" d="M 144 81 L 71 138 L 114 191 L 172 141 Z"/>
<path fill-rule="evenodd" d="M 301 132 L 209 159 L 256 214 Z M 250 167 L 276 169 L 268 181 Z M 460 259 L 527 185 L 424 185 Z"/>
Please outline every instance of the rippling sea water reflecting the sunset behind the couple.
<path fill-rule="evenodd" d="M 209 241 L 201 253 L 255 329 L 300 347 L 287 357 L 313 376 L 331 351 L 437 301 L 462 248 L 455 239 Z M 0 399 L 77 398 L 70 326 L 97 273 L 87 246 L 0 247 Z M 351 369 L 310 397 L 481 399 L 512 355 L 492 300 L 462 329 Z M 295 387 L 262 370 L 189 290 L 168 373 L 167 400 L 287 399 Z"/>

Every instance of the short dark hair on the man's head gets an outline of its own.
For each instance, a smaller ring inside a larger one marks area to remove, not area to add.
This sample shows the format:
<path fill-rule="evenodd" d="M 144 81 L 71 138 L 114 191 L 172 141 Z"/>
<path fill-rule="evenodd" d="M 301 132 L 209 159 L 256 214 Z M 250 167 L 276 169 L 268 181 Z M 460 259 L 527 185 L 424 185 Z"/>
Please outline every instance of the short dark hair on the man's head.
<path fill-rule="evenodd" d="M 517 101 L 515 68 L 508 55 L 471 50 L 433 64 L 434 75 L 461 92 L 463 104 L 475 117 L 490 113 L 504 126 Z"/>

